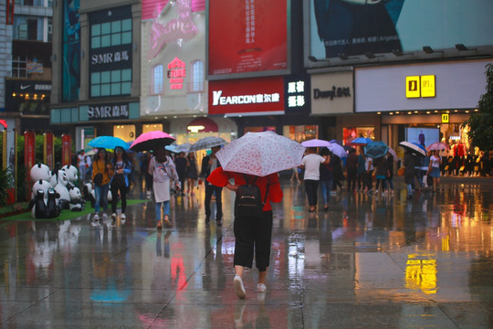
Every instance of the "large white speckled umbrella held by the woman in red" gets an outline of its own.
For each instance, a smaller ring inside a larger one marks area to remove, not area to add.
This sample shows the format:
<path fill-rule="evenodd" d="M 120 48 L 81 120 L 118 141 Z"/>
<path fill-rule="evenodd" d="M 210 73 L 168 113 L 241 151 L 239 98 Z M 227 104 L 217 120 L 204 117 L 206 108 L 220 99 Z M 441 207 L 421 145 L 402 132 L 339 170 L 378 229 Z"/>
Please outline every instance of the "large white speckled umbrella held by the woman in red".
<path fill-rule="evenodd" d="M 226 171 L 266 176 L 301 164 L 305 148 L 273 132 L 246 133 L 215 155 Z"/>

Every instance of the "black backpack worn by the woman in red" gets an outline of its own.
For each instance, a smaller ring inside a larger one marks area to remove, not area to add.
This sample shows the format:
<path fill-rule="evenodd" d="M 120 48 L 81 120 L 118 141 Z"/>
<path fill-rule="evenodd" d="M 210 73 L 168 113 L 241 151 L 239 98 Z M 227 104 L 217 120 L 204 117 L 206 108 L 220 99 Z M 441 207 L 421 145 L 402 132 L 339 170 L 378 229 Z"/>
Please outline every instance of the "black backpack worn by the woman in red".
<path fill-rule="evenodd" d="M 268 182 L 266 196 L 262 202 L 260 188 L 255 184 L 257 176 L 249 182 L 245 175 L 247 184 L 239 186 L 235 198 L 235 217 L 236 218 L 262 218 L 262 209 L 267 201 Z"/>

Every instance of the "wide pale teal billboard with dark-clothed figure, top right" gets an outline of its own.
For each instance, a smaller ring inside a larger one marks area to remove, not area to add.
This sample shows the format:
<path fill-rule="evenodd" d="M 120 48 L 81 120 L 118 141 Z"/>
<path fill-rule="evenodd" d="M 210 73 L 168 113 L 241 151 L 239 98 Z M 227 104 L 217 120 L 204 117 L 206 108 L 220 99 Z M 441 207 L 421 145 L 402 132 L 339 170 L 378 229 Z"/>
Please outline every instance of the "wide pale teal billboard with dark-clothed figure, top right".
<path fill-rule="evenodd" d="M 491 0 L 312 0 L 310 55 L 490 46 L 492 15 Z"/>

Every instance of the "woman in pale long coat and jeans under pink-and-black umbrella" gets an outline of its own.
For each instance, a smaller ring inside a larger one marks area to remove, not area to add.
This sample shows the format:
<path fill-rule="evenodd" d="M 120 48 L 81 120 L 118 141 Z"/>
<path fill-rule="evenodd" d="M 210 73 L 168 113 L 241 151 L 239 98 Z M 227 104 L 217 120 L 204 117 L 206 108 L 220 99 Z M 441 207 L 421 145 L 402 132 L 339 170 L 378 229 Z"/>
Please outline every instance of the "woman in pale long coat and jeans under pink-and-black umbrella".
<path fill-rule="evenodd" d="M 157 229 L 163 229 L 163 220 L 169 226 L 170 221 L 170 182 L 173 180 L 177 191 L 181 189 L 180 179 L 173 163 L 173 159 L 166 155 L 164 148 L 154 150 L 154 156 L 149 161 L 149 175 L 152 176 L 154 190 Z"/>

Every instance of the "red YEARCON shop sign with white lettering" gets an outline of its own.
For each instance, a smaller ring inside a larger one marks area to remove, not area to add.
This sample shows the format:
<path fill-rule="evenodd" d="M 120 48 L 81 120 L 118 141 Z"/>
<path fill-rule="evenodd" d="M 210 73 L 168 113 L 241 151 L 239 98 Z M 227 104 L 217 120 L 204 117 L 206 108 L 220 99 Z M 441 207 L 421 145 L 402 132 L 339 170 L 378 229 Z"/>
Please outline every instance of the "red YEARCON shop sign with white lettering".
<path fill-rule="evenodd" d="M 284 114 L 283 77 L 209 81 L 209 114 Z"/>

